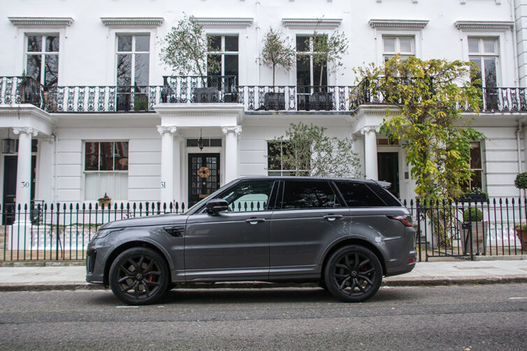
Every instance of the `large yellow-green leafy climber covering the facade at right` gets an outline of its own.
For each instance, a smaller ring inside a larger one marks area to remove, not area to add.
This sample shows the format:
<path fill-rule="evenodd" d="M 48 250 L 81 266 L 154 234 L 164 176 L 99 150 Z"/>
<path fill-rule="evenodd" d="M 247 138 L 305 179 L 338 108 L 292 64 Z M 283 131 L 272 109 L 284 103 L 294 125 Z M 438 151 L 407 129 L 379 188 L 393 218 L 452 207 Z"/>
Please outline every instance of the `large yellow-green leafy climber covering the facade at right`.
<path fill-rule="evenodd" d="M 384 66 L 356 70 L 361 91 L 382 96 L 387 108 L 381 131 L 400 140 L 415 193 L 421 200 L 452 200 L 463 193 L 470 170 L 470 142 L 484 138 L 461 112 L 479 112 L 481 89 L 470 62 L 421 60 L 396 55 Z"/>

